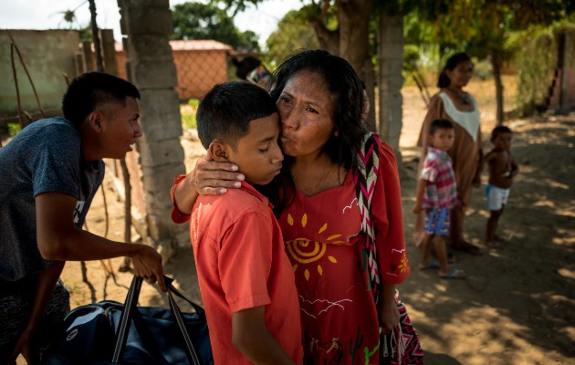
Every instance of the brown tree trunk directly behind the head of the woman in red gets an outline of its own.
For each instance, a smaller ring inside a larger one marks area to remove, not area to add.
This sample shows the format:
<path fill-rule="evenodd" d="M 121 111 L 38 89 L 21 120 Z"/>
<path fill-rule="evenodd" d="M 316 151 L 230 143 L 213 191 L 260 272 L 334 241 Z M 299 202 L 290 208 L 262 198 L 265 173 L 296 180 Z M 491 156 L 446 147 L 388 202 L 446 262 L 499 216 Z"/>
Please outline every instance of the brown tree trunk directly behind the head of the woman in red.
<path fill-rule="evenodd" d="M 374 74 L 370 57 L 370 16 L 373 0 L 341 0 L 338 9 L 340 23 L 340 57 L 345 58 L 365 84 L 370 105 L 375 106 Z M 370 108 L 367 125 L 375 129 L 375 108 Z"/>

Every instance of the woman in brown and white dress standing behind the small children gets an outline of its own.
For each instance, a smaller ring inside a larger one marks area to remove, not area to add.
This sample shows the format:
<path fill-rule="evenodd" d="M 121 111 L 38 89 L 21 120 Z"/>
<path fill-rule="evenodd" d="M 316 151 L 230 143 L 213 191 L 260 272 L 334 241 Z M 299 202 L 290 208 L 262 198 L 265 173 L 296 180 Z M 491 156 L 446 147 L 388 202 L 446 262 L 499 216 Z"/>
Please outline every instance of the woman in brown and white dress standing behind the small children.
<path fill-rule="evenodd" d="M 476 245 L 465 241 L 465 207 L 471 199 L 472 187 L 481 185 L 483 151 L 481 149 L 480 115 L 476 99 L 464 90 L 473 74 L 473 62 L 465 53 L 449 57 L 439 75 L 439 92 L 429 102 L 417 145 L 422 148 L 421 163 L 429 145 L 429 128 L 434 120 L 450 120 L 455 126 L 455 143 L 448 151 L 454 163 L 458 203 L 451 211 L 451 245 L 455 250 L 480 255 Z M 415 245 L 423 239 L 423 216 L 418 215 Z"/>

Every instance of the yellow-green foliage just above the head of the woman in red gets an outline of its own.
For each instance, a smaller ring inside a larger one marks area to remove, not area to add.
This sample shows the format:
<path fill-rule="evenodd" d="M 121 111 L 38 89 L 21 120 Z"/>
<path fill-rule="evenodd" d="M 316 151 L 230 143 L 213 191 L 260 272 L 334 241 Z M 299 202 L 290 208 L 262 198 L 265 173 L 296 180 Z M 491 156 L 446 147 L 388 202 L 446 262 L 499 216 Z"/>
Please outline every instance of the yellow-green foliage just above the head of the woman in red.
<path fill-rule="evenodd" d="M 267 54 L 264 64 L 270 68 L 301 48 L 318 48 L 319 41 L 313 28 L 308 25 L 308 9 L 292 10 L 278 23 L 277 30 L 267 38 Z"/>

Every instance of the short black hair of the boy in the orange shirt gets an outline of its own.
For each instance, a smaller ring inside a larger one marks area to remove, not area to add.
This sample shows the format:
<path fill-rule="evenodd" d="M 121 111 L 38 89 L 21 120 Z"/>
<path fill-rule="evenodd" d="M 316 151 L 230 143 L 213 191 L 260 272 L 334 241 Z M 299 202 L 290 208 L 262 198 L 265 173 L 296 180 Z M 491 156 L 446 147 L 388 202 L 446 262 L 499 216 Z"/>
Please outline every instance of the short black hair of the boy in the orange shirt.
<path fill-rule="evenodd" d="M 235 142 L 249 132 L 250 121 L 276 112 L 276 103 L 265 89 L 244 81 L 218 84 L 198 107 L 198 137 L 206 150 L 214 139 L 235 148 Z"/>

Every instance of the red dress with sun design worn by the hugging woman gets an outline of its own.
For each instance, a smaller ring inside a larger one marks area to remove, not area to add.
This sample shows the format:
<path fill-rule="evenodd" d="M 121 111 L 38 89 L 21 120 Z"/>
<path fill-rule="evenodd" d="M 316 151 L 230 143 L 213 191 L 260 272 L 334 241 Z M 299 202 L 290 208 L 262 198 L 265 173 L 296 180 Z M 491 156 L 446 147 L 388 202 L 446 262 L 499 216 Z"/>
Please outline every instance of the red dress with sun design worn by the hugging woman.
<path fill-rule="evenodd" d="M 403 239 L 397 162 L 380 146 L 372 200 L 380 279 L 400 284 L 410 267 Z M 314 196 L 297 192 L 279 218 L 296 276 L 304 362 L 377 364 L 379 323 L 365 265 L 365 235 L 352 172 L 342 186 Z"/>

